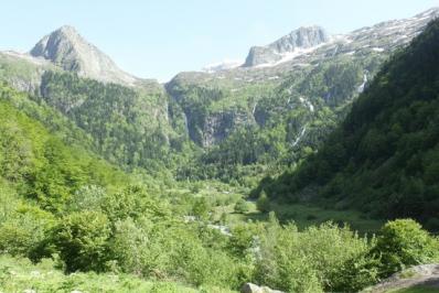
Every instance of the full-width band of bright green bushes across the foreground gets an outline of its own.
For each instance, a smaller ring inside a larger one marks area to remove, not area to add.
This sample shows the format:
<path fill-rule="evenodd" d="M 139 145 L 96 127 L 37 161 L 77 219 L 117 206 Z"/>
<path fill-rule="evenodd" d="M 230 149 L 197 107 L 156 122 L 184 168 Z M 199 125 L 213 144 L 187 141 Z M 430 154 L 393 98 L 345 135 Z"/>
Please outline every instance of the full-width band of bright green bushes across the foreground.
<path fill-rule="evenodd" d="M 1 252 L 33 261 L 55 253 L 67 273 L 111 271 L 226 290 L 254 282 L 286 292 L 356 292 L 405 267 L 439 260 L 438 240 L 409 219 L 363 238 L 332 223 L 299 231 L 271 213 L 267 223 L 223 235 L 204 221 L 185 223 L 165 198 L 141 187 L 115 194 L 79 188 L 62 214 L 10 203 L 0 218 Z M 174 290 L 154 286 L 164 289 Z"/>

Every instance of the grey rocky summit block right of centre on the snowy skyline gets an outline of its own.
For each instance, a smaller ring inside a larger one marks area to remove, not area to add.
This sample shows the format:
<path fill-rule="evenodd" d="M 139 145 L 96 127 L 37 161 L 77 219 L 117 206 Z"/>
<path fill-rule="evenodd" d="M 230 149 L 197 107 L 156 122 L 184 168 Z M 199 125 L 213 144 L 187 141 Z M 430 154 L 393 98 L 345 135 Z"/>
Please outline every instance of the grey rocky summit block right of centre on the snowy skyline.
<path fill-rule="evenodd" d="M 330 40 L 326 31 L 319 25 L 301 26 L 279 40 L 266 45 L 250 48 L 245 67 L 280 62 L 296 50 L 306 50 L 326 43 Z"/>

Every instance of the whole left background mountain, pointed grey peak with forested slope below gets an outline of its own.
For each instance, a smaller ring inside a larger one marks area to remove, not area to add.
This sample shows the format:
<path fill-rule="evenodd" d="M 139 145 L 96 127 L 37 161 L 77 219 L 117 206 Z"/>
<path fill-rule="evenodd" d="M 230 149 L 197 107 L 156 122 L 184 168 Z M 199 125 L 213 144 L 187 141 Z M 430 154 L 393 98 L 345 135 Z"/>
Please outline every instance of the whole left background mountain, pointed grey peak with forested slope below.
<path fill-rule="evenodd" d="M 75 129 L 56 126 L 66 140 L 83 131 L 93 151 L 124 169 L 169 167 L 186 148 L 179 110 L 169 119 L 163 87 L 121 72 L 71 26 L 43 37 L 30 54 L 0 53 L 0 79 L 53 108 L 55 119 L 64 116 Z M 26 113 L 52 129 L 38 111 Z"/>

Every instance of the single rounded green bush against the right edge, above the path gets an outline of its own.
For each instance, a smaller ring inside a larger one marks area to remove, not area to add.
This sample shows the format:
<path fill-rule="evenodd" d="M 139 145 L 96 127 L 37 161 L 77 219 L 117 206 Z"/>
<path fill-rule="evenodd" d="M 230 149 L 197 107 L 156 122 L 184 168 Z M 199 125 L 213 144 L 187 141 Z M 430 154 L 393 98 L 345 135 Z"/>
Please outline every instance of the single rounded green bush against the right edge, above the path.
<path fill-rule="evenodd" d="M 413 219 L 388 221 L 377 238 L 373 254 L 381 259 L 381 275 L 408 265 L 439 260 L 439 243 Z"/>

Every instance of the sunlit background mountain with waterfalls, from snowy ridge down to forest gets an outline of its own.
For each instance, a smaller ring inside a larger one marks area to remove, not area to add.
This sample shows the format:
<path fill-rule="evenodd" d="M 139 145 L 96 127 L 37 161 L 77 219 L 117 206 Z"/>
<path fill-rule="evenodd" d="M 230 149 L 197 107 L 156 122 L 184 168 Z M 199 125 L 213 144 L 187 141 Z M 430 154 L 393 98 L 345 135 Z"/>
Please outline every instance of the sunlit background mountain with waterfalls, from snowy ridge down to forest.
<path fill-rule="evenodd" d="M 389 54 L 406 46 L 438 12 L 345 35 L 328 36 L 314 26 L 308 29 L 307 42 L 297 40 L 300 30 L 293 31 L 266 46 L 290 55 L 281 62 L 176 75 L 167 91 L 183 113 L 189 137 L 205 150 L 182 173 L 203 164 L 208 167 L 195 176 L 231 180 L 237 176 L 231 169 L 239 165 L 295 164 L 344 118 Z"/>

